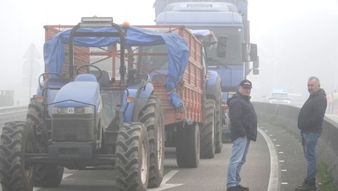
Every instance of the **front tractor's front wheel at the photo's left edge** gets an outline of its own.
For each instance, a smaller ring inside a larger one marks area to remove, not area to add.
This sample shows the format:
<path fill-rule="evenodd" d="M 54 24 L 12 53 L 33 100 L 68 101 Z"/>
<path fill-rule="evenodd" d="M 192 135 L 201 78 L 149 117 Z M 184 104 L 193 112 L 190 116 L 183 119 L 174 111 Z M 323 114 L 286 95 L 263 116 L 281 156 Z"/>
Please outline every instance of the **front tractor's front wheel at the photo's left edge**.
<path fill-rule="evenodd" d="M 25 166 L 25 153 L 34 152 L 34 134 L 25 122 L 6 123 L 0 140 L 0 180 L 4 191 L 32 191 L 32 166 Z"/>

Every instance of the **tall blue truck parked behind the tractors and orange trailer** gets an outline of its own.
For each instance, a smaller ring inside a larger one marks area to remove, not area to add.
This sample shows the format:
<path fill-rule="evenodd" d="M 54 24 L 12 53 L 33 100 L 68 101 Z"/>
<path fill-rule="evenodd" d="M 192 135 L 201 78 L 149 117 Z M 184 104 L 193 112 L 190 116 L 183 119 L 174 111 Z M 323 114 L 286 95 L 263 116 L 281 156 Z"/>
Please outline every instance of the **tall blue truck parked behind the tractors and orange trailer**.
<path fill-rule="evenodd" d="M 211 46 L 207 49 L 208 70 L 220 74 L 222 99 L 237 91 L 237 86 L 251 71 L 258 74 L 256 44 L 251 44 L 247 0 L 156 0 L 156 25 L 184 25 L 189 29 L 210 29 L 218 38 L 222 53 Z M 252 66 L 250 62 L 253 62 Z M 216 103 L 221 105 L 222 103 Z M 230 138 L 230 122 L 223 112 L 223 136 Z"/>

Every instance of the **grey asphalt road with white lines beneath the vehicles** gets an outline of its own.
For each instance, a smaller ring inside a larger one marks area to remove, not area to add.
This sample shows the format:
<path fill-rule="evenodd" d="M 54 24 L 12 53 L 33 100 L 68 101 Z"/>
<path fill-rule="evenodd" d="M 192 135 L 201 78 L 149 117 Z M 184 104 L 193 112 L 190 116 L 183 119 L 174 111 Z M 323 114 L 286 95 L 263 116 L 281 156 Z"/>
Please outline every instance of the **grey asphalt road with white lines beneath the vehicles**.
<path fill-rule="evenodd" d="M 286 129 L 270 124 L 260 123 L 259 132 L 257 142 L 251 142 L 246 164 L 242 168 L 242 185 L 249 186 L 251 191 L 294 190 L 306 172 L 301 143 Z M 201 159 L 196 169 L 179 169 L 175 150 L 166 149 L 163 184 L 149 190 L 225 191 L 231 146 L 231 143 L 225 143 L 220 154 L 216 154 L 214 159 Z M 114 176 L 114 171 L 65 169 L 59 187 L 35 187 L 34 190 L 115 190 Z"/>

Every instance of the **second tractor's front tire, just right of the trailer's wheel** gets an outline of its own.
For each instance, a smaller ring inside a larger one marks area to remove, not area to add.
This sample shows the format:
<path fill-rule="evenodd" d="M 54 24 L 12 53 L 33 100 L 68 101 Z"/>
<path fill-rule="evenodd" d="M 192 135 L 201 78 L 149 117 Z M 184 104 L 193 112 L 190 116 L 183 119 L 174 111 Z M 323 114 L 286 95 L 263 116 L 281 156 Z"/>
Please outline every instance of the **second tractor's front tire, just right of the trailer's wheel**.
<path fill-rule="evenodd" d="M 201 159 L 215 157 L 215 100 L 206 100 L 206 121 L 201 128 Z"/>

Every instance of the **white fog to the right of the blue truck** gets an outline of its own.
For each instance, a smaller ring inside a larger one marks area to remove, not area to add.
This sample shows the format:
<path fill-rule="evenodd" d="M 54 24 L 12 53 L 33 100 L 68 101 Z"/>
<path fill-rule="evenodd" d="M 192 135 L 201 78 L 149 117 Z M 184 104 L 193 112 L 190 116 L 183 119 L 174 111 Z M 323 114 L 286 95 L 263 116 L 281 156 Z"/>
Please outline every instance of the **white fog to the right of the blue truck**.
<path fill-rule="evenodd" d="M 338 1 L 249 1 L 251 41 L 258 44 L 260 74 L 250 75 L 253 100 L 271 88 L 308 97 L 307 79 L 338 89 Z"/>

